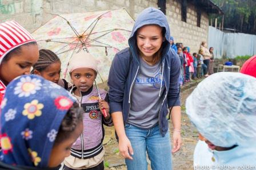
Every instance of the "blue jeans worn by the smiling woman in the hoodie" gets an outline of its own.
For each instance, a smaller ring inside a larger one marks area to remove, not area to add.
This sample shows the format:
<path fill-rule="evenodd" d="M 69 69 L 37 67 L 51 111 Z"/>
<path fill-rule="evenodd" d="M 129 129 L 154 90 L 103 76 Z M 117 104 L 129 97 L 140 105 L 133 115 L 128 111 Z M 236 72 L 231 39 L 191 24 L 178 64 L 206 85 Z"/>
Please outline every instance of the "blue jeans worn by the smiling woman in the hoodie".
<path fill-rule="evenodd" d="M 133 160 L 125 160 L 128 170 L 147 170 L 146 152 L 151 161 L 151 169 L 173 169 L 169 131 L 163 137 L 158 125 L 149 129 L 142 129 L 126 124 L 125 132 L 134 151 L 134 155 L 131 155 Z"/>

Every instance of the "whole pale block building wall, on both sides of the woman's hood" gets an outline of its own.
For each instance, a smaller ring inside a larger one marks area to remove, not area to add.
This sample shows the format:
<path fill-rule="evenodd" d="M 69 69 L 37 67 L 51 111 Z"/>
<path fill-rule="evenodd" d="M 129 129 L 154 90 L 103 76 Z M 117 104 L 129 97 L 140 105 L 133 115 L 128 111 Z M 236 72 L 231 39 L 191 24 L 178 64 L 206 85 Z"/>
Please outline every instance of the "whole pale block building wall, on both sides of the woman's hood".
<path fill-rule="evenodd" d="M 143 9 L 150 6 L 157 7 L 157 0 L 0 0 L 0 22 L 17 20 L 33 32 L 54 14 L 125 8 L 136 19 Z M 197 27 L 197 12 L 194 6 L 189 5 L 187 22 L 182 22 L 181 3 L 179 0 L 168 0 L 166 16 L 174 42 L 189 46 L 191 52 L 197 52 L 202 41 L 207 42 L 209 19 L 206 13 L 201 14 L 201 27 Z"/>

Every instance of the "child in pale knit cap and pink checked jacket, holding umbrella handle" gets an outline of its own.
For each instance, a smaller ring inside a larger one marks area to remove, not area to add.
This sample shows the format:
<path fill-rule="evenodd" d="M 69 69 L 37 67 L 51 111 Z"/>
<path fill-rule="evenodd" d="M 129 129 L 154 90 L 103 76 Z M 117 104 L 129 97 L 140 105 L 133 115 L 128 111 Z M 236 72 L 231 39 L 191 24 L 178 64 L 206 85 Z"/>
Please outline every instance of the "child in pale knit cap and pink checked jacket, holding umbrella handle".
<path fill-rule="evenodd" d="M 69 68 L 74 84 L 70 93 L 77 98 L 85 113 L 83 133 L 73 144 L 71 155 L 65 159 L 63 169 L 104 169 L 103 124 L 113 126 L 113 122 L 109 114 L 107 92 L 99 89 L 98 93 L 93 86 L 97 76 L 97 61 L 89 53 L 80 51 L 71 58 Z M 103 117 L 103 109 L 106 110 L 106 117 Z"/>

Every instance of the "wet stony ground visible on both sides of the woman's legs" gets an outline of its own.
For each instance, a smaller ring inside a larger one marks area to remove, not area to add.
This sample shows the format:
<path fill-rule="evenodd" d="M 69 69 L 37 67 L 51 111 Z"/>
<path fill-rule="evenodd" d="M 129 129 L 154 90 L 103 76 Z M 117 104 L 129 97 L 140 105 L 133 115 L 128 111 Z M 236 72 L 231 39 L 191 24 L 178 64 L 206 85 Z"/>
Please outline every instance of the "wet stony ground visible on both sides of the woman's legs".
<path fill-rule="evenodd" d="M 198 140 L 197 129 L 191 125 L 189 118 L 185 111 L 185 100 L 189 94 L 194 90 L 195 85 L 201 80 L 191 82 L 188 85 L 183 86 L 181 101 L 182 101 L 182 148 L 179 152 L 173 154 L 173 170 L 193 170 L 193 152 L 195 144 Z M 170 132 L 173 131 L 171 122 Z M 106 127 L 106 135 L 104 139 L 104 146 L 106 148 L 105 154 L 105 169 L 106 170 L 121 170 L 126 169 L 124 159 L 119 156 L 118 143 L 115 140 L 114 127 Z M 148 162 L 150 162 L 148 160 Z M 149 164 L 149 168 L 150 164 Z"/>

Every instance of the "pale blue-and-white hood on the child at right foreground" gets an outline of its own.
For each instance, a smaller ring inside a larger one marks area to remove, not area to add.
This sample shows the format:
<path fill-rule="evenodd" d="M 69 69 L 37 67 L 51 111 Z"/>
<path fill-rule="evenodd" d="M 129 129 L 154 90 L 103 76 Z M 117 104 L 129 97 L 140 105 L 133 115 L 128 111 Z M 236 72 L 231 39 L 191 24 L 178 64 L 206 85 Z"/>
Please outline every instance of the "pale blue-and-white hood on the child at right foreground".
<path fill-rule="evenodd" d="M 249 145 L 256 138 L 255 84 L 254 77 L 242 73 L 212 74 L 187 98 L 186 113 L 215 146 Z"/>

